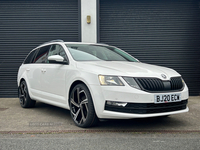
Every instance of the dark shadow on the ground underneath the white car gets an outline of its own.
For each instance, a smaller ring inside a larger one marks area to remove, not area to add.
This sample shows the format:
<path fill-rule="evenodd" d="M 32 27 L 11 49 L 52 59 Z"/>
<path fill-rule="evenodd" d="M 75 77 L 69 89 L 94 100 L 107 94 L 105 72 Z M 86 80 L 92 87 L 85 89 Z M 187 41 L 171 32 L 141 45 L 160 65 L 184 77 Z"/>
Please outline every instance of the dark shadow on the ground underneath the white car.
<path fill-rule="evenodd" d="M 70 111 L 60 107 L 37 102 L 34 109 L 40 111 L 44 115 L 59 117 L 66 121 L 72 122 Z M 71 124 L 75 126 L 75 124 Z M 90 128 L 92 130 L 178 130 L 180 126 L 186 123 L 181 117 L 152 117 L 152 118 L 136 118 L 136 119 L 101 119 L 99 123 Z M 81 128 L 80 128 L 81 129 Z"/>

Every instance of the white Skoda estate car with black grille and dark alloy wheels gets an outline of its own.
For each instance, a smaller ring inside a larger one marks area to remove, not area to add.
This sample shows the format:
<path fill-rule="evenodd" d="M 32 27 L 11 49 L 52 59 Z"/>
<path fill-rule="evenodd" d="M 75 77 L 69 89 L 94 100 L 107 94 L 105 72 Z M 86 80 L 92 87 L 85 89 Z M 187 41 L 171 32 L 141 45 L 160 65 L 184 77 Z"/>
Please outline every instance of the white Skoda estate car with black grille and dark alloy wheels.
<path fill-rule="evenodd" d="M 188 88 L 176 71 L 141 63 L 117 47 L 54 40 L 33 49 L 18 71 L 23 108 L 36 101 L 69 109 L 79 127 L 98 119 L 188 112 Z"/>

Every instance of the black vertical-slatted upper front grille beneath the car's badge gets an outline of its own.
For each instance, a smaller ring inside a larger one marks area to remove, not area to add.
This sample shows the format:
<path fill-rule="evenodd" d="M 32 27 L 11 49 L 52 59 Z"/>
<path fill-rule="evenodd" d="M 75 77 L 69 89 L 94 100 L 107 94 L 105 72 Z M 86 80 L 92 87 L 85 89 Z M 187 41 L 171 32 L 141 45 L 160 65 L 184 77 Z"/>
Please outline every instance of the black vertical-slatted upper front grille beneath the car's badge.
<path fill-rule="evenodd" d="M 135 78 L 140 88 L 150 92 L 180 91 L 183 89 L 181 77 L 173 77 L 170 81 L 162 81 L 158 78 Z"/>

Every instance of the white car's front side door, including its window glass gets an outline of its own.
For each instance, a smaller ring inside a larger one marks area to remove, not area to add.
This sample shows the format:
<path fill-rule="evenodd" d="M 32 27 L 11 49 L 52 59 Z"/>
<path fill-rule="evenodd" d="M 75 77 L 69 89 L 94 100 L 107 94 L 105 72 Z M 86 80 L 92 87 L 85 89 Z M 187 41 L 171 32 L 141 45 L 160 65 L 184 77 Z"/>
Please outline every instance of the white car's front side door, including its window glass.
<path fill-rule="evenodd" d="M 51 46 L 47 58 L 52 55 L 60 55 L 67 60 L 66 53 L 63 47 L 59 44 Z M 43 65 L 41 84 L 45 94 L 43 95 L 45 99 L 59 103 L 66 103 L 65 78 L 68 67 L 69 65 L 67 64 L 49 63 L 48 60 L 46 61 L 46 64 Z"/>

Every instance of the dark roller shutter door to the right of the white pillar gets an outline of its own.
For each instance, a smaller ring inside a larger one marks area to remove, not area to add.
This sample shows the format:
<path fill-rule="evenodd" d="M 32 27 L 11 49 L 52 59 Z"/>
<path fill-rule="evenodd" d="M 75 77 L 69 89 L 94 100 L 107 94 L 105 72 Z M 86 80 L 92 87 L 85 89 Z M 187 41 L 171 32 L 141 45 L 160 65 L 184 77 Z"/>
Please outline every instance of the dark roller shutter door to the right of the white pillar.
<path fill-rule="evenodd" d="M 200 95 L 199 0 L 99 0 L 99 42 L 178 71 Z"/>

